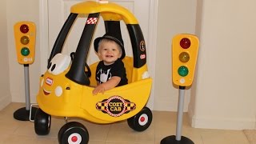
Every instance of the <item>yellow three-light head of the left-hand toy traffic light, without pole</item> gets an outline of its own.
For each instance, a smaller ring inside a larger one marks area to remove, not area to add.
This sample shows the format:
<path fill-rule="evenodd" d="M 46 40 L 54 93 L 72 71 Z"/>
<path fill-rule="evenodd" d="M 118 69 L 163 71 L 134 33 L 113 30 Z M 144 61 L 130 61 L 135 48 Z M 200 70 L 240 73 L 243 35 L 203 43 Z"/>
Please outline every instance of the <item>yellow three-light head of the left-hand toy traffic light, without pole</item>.
<path fill-rule="evenodd" d="M 33 63 L 35 45 L 34 22 L 17 22 L 14 25 L 14 36 L 18 63 Z"/>

